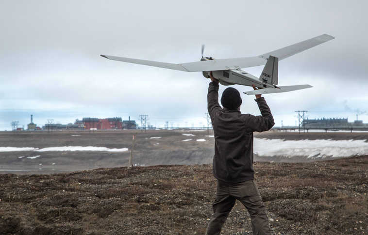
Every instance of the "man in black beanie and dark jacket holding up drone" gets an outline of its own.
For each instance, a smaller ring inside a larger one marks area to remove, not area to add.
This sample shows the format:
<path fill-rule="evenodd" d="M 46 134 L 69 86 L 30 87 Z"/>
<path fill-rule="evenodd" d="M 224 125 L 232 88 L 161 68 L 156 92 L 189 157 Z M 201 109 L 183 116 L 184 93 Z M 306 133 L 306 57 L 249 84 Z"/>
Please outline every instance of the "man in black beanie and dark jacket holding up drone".
<path fill-rule="evenodd" d="M 208 113 L 215 134 L 213 174 L 217 178 L 214 214 L 206 235 L 219 235 L 222 225 L 239 200 L 251 216 L 253 235 L 270 235 L 266 208 L 254 182 L 253 132 L 264 132 L 275 124 L 271 111 L 261 95 L 256 95 L 262 116 L 241 114 L 240 93 L 226 88 L 218 104 L 218 80 L 210 73 L 208 88 Z M 253 85 L 253 89 L 256 89 Z"/>

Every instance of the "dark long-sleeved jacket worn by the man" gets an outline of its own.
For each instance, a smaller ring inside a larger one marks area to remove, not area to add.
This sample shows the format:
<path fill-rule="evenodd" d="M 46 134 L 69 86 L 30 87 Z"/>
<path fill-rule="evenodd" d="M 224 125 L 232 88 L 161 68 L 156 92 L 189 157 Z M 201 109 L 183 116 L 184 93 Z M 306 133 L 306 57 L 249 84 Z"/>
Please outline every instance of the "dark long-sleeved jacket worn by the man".
<path fill-rule="evenodd" d="M 207 101 L 215 135 L 214 176 L 230 183 L 254 179 L 253 132 L 268 131 L 275 124 L 265 98 L 255 100 L 261 116 L 241 114 L 238 109 L 221 108 L 218 84 L 211 82 Z"/>

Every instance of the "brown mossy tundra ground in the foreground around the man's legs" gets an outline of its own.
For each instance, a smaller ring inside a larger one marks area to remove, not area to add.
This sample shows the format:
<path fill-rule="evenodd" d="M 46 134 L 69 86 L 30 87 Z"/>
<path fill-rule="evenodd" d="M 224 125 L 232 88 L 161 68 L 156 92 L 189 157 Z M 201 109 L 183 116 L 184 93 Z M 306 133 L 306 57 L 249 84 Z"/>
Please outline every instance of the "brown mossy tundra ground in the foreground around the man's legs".
<path fill-rule="evenodd" d="M 368 156 L 254 168 L 274 234 L 368 233 Z M 215 188 L 211 165 L 0 175 L 0 234 L 204 234 Z M 239 203 L 222 234 L 251 234 Z"/>

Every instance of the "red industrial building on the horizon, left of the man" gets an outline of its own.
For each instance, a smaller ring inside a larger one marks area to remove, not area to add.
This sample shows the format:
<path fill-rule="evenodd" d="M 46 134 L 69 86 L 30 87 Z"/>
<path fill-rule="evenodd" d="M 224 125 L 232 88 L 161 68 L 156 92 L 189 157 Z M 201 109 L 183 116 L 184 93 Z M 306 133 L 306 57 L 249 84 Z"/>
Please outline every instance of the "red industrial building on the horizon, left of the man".
<path fill-rule="evenodd" d="M 122 119 L 121 118 L 83 118 L 84 129 L 122 129 Z"/>

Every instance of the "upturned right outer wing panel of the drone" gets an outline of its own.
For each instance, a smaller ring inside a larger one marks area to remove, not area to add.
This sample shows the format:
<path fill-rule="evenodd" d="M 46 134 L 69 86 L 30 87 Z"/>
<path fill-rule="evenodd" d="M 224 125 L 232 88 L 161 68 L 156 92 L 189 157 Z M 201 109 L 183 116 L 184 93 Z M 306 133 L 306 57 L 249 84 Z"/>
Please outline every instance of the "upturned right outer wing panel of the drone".
<path fill-rule="evenodd" d="M 334 39 L 333 36 L 328 35 L 328 34 L 322 34 L 322 35 L 319 35 L 317 37 L 302 41 L 300 43 L 292 44 L 292 45 L 283 47 L 281 49 L 268 52 L 266 54 L 260 55 L 259 57 L 261 57 L 263 59 L 268 59 L 269 56 L 274 56 L 274 57 L 279 58 L 279 60 L 281 60 L 281 59 L 285 59 L 289 56 L 298 54 L 298 53 L 300 53 L 302 51 L 305 51 L 309 48 L 312 48 L 316 45 L 319 45 L 319 44 L 325 43 L 327 41 L 330 41 L 332 39 Z"/>

